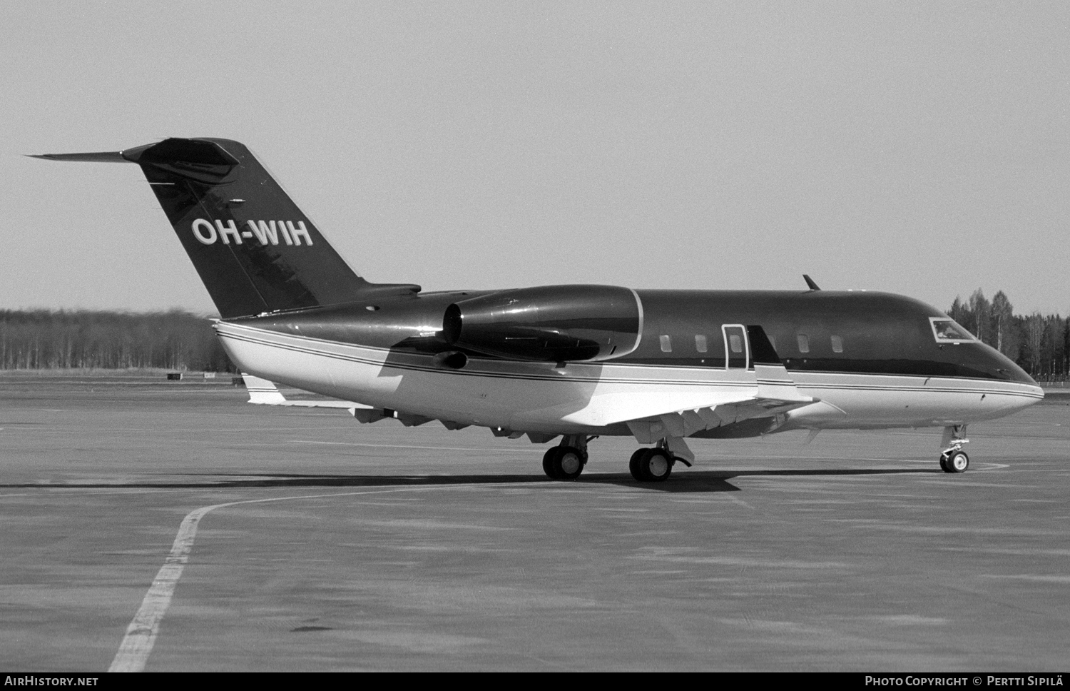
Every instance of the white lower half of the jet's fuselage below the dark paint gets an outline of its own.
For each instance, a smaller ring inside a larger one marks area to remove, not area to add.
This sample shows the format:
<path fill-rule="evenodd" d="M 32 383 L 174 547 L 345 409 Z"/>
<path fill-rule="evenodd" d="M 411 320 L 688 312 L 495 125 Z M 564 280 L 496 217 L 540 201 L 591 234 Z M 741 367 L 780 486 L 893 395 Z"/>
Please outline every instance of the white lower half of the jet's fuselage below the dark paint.
<path fill-rule="evenodd" d="M 754 372 L 745 369 L 472 358 L 453 370 L 429 355 L 234 322 L 215 328 L 243 372 L 376 408 L 517 432 L 628 434 L 620 422 L 716 406 L 755 387 Z M 791 377 L 815 402 L 786 412 L 777 430 L 947 426 L 999 418 L 1043 397 L 1038 386 L 1019 381 L 800 371 Z"/>

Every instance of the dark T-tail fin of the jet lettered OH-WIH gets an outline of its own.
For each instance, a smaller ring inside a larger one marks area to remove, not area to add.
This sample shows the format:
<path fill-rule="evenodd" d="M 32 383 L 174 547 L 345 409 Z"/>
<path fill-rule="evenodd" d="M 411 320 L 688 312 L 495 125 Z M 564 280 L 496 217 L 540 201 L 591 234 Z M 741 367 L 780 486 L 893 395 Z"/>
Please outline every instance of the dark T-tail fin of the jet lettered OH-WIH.
<path fill-rule="evenodd" d="M 118 153 L 37 157 L 140 165 L 225 319 L 419 291 L 354 273 L 238 141 L 171 138 Z"/>

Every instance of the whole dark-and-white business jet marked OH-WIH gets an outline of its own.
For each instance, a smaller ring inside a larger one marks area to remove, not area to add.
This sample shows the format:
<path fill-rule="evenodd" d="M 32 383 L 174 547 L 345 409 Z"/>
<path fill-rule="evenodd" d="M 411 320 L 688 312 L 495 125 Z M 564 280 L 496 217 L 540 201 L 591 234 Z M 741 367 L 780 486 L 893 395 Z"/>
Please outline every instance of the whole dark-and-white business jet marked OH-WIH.
<path fill-rule="evenodd" d="M 809 277 L 802 291 L 423 292 L 357 275 L 236 141 L 39 157 L 141 166 L 243 372 L 354 402 L 361 422 L 560 437 L 542 461 L 557 480 L 580 476 L 600 435 L 644 445 L 629 468 L 653 482 L 691 465 L 687 438 L 928 426 L 944 427 L 941 467 L 962 472 L 968 423 L 1043 397 L 946 314 L 898 295 Z"/>

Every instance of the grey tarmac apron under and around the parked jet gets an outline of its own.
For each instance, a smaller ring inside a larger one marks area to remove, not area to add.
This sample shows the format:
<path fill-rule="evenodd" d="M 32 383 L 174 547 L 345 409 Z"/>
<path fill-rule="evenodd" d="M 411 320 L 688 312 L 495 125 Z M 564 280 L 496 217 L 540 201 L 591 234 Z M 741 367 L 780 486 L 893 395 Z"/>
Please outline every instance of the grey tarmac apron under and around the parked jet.
<path fill-rule="evenodd" d="M 694 468 L 640 484 L 629 439 L 553 482 L 526 439 L 245 397 L 0 376 L 0 669 L 107 670 L 183 520 L 224 504 L 147 671 L 1070 659 L 1070 399 L 972 425 L 963 475 L 939 470 L 938 430 L 798 432 L 699 440 Z"/>

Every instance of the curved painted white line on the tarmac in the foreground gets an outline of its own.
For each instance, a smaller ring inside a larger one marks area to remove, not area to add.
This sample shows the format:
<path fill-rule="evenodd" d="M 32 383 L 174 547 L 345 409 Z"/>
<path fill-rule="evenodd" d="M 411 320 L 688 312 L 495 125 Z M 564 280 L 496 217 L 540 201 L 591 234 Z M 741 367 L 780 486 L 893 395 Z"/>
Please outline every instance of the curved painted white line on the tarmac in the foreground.
<path fill-rule="evenodd" d="M 454 485 L 463 486 L 463 485 Z M 366 492 L 341 492 L 331 494 L 308 494 L 293 497 L 274 497 L 271 499 L 246 499 L 244 501 L 228 501 L 226 504 L 214 504 L 209 507 L 194 509 L 186 514 L 179 526 L 179 532 L 174 537 L 171 545 L 171 553 L 164 561 L 164 566 L 156 572 L 156 577 L 152 580 L 152 586 L 141 601 L 141 606 L 129 626 L 126 627 L 126 635 L 119 644 L 119 651 L 111 661 L 108 672 L 142 672 L 149 661 L 149 654 L 156 643 L 156 634 L 159 632 L 159 622 L 171 604 L 171 596 L 179 584 L 182 569 L 189 559 L 189 551 L 194 546 L 194 538 L 197 537 L 197 524 L 210 511 L 225 507 L 233 507 L 242 504 L 264 504 L 268 501 L 286 501 L 288 499 L 322 499 L 326 497 L 351 497 L 364 494 L 386 494 L 389 492 L 421 492 L 428 490 L 442 490 L 446 487 L 393 487 L 389 490 L 369 490 Z"/>

